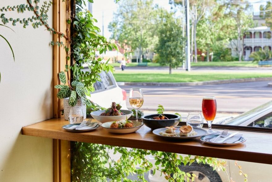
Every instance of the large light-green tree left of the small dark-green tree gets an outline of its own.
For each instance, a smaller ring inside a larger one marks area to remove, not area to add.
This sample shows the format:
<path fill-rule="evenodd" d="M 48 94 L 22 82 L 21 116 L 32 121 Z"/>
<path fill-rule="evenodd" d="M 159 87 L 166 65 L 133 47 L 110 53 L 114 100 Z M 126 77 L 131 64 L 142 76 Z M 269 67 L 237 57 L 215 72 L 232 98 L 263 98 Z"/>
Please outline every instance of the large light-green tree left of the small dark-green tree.
<path fill-rule="evenodd" d="M 155 41 L 155 8 L 153 0 L 125 0 L 118 4 L 117 13 L 109 24 L 112 37 L 132 50 L 139 49 L 140 62 L 144 49 L 152 48 Z"/>

